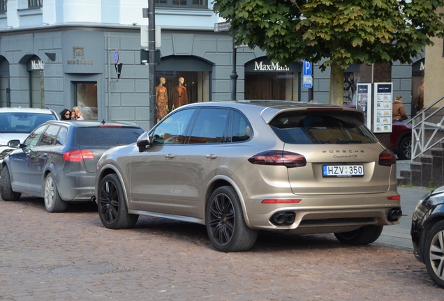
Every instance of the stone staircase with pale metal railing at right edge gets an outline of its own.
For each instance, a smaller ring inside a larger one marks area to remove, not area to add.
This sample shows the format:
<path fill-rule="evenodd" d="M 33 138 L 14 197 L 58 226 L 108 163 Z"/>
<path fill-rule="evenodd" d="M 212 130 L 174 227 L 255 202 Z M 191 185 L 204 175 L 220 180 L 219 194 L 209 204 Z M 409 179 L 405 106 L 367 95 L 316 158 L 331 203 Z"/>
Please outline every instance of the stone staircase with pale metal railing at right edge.
<path fill-rule="evenodd" d="M 444 185 L 444 96 L 420 111 L 412 123 L 410 169 L 400 169 L 398 185 Z"/>

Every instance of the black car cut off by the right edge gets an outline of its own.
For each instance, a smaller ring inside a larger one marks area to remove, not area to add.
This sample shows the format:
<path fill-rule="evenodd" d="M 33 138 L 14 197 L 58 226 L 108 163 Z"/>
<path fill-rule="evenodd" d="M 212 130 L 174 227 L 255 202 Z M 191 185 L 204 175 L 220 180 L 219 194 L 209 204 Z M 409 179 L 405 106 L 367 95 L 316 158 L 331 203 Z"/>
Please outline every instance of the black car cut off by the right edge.
<path fill-rule="evenodd" d="M 417 203 L 410 233 L 415 257 L 426 265 L 436 285 L 444 288 L 444 186 Z"/>

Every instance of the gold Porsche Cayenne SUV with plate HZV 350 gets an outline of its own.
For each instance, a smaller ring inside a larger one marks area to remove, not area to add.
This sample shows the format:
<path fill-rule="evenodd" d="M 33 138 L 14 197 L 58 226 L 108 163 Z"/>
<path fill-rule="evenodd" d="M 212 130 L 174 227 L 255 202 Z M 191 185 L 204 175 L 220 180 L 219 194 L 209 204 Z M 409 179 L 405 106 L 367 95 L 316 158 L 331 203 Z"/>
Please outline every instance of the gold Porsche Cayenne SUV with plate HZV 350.
<path fill-rule="evenodd" d="M 363 122 L 356 109 L 300 102 L 180 107 L 103 154 L 99 216 L 110 229 L 139 215 L 204 224 L 222 252 L 250 249 L 259 230 L 369 244 L 401 206 L 395 155 Z"/>

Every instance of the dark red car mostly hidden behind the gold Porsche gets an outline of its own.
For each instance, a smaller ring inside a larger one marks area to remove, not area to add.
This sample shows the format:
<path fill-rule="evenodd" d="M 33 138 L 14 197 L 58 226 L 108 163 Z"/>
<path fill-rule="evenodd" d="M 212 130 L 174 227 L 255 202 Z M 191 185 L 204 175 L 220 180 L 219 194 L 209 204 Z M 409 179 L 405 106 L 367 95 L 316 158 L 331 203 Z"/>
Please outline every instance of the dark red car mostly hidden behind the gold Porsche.
<path fill-rule="evenodd" d="M 355 109 L 355 105 L 344 105 Z M 392 122 L 390 134 L 390 150 L 398 155 L 399 160 L 410 160 L 412 155 L 412 125 L 401 122 Z"/>

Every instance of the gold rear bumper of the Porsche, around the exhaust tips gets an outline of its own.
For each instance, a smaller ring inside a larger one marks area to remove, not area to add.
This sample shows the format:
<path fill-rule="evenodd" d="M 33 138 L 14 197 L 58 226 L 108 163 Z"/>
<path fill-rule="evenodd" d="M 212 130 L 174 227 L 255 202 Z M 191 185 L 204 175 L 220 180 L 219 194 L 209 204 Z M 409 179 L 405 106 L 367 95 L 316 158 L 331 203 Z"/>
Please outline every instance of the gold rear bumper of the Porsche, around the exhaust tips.
<path fill-rule="evenodd" d="M 297 196 L 288 199 L 301 199 L 297 204 L 263 204 L 261 200 L 246 203 L 246 214 L 253 229 L 288 230 L 292 233 L 332 233 L 353 231 L 362 226 L 386 226 L 399 224 L 399 220 L 387 218 L 390 210 L 400 209 L 399 201 L 388 201 L 385 194 L 350 194 Z M 279 196 L 279 199 L 286 199 Z M 295 222 L 289 225 L 274 225 L 270 219 L 276 213 L 295 213 Z"/>

